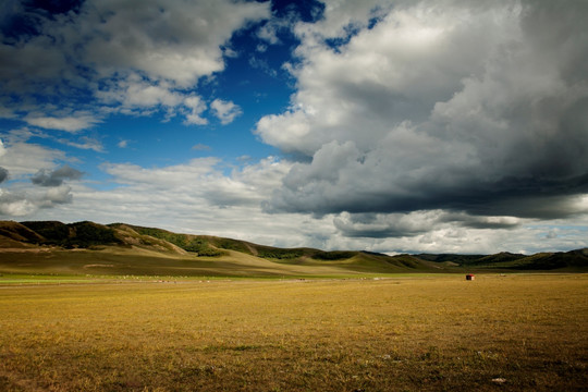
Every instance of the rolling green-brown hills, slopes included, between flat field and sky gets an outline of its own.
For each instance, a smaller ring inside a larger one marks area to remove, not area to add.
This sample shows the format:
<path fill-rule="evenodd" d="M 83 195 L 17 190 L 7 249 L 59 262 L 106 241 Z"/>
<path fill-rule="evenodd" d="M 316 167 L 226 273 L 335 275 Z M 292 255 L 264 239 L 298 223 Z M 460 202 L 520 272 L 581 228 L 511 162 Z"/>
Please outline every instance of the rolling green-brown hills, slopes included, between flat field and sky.
<path fill-rule="evenodd" d="M 0 273 L 343 277 L 402 272 L 586 271 L 588 249 L 531 256 L 397 255 L 278 248 L 125 223 L 0 221 Z"/>

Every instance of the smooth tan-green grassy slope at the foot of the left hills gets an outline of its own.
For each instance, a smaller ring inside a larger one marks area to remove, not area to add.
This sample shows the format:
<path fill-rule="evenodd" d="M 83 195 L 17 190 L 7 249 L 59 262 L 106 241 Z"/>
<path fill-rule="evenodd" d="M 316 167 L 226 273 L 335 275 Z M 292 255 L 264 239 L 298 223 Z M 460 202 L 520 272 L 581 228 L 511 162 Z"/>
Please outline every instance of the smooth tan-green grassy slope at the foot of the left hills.
<path fill-rule="evenodd" d="M 181 277 L 348 277 L 385 273 L 406 268 L 352 258 L 344 261 L 286 265 L 225 250 L 220 257 L 161 254 L 145 249 L 105 247 L 102 250 L 33 249 L 0 254 L 4 274 L 58 275 L 181 275 Z"/>

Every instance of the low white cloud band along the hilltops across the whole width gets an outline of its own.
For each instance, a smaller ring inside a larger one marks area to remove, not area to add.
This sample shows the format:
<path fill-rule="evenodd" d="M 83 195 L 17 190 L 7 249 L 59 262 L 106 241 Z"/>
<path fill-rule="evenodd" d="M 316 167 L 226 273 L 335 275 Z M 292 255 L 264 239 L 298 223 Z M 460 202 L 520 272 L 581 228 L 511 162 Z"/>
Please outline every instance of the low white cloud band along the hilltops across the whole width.
<path fill-rule="evenodd" d="M 292 163 L 269 158 L 235 169 L 231 174 L 224 174 L 220 163 L 215 158 L 160 168 L 110 163 L 103 169 L 121 186 L 99 191 L 71 182 L 46 191 L 22 184 L 8 195 L 2 191 L 0 212 L 72 222 L 88 219 L 87 211 L 91 210 L 95 211 L 91 219 L 101 223 L 122 221 L 284 247 L 534 253 L 588 245 L 581 216 L 554 220 L 548 225 L 537 220 L 476 217 L 444 210 L 407 215 L 341 212 L 323 217 L 268 215 L 260 205 L 268 194 L 280 189 Z M 585 209 L 588 207 L 584 198 L 576 203 Z M 99 210 L 95 209 L 97 205 L 101 206 Z M 552 232 L 558 236 L 547 238 Z"/>

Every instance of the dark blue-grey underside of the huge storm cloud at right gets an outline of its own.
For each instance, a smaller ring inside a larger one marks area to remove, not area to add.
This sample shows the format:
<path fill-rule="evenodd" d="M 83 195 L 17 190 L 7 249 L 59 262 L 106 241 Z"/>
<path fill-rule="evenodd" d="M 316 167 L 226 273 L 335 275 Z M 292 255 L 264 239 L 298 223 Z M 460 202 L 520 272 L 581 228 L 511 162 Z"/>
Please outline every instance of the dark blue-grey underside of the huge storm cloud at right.
<path fill-rule="evenodd" d="M 311 206 L 314 213 L 326 215 L 341 211 L 406 213 L 445 209 L 482 217 L 555 219 L 584 212 L 573 201 L 575 196 L 588 193 L 586 174 L 555 180 L 507 177 L 498 182 L 481 182 L 476 173 L 471 173 L 467 179 L 460 179 L 461 183 L 444 183 L 443 176 L 452 176 L 454 173 L 440 172 L 437 173 L 438 177 L 412 181 L 402 175 L 394 177 L 382 172 L 379 173 L 381 182 L 370 184 L 375 174 L 371 170 L 372 168 L 367 167 L 357 171 L 358 176 L 365 176 L 364 181 L 350 179 L 345 183 L 338 177 L 341 173 L 333 171 L 333 182 L 316 179 L 305 185 L 295 182 L 297 187 L 294 189 L 289 184 L 290 186 L 280 189 L 274 196 L 268 210 L 304 212 Z M 480 221 L 466 221 L 464 224 L 477 228 L 493 225 Z"/>

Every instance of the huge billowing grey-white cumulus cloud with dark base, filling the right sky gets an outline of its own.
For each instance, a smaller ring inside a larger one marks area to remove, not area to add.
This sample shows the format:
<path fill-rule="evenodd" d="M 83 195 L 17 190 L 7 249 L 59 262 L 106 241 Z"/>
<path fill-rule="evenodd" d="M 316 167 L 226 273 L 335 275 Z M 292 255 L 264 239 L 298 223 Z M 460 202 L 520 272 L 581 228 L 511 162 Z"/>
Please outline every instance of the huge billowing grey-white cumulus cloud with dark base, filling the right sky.
<path fill-rule="evenodd" d="M 588 5 L 351 3 L 297 25 L 297 93 L 257 124 L 306 157 L 269 211 L 358 213 L 335 221 L 351 236 L 419 233 L 396 216 L 413 211 L 477 217 L 470 228 L 588 212 L 575 200 L 588 193 Z"/>

